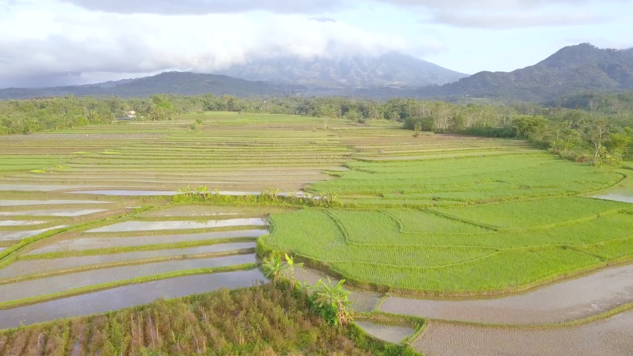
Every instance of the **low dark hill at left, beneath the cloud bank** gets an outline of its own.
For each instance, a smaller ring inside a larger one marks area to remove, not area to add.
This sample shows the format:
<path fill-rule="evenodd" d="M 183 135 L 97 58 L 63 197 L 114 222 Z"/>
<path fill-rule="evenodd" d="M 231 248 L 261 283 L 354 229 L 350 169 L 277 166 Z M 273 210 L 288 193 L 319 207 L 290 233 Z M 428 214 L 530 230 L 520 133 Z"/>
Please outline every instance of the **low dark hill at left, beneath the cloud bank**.
<path fill-rule="evenodd" d="M 305 88 L 293 86 L 294 91 Z M 268 82 L 191 72 L 164 72 L 151 77 L 123 79 L 115 82 L 45 88 L 0 89 L 0 99 L 36 98 L 63 95 L 99 95 L 122 97 L 150 96 L 153 94 L 229 94 L 234 96 L 276 95 L 284 93 L 284 85 Z"/>

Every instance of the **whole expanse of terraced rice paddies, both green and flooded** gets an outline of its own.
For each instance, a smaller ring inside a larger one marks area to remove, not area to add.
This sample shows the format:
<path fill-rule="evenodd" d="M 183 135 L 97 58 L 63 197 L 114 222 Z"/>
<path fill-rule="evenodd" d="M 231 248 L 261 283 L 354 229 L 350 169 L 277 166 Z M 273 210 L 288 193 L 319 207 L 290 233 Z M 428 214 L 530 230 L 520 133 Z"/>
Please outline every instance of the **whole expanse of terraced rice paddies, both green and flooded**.
<path fill-rule="evenodd" d="M 633 265 L 622 253 L 631 240 L 630 169 L 587 172 L 525 141 L 414 139 L 391 123 L 334 119 L 320 131 L 320 119 L 260 116 L 214 113 L 199 131 L 184 129 L 194 120 L 184 116 L 0 137 L 2 157 L 54 162 L 30 170 L 0 165 L 0 328 L 265 282 L 256 241 L 286 231 L 298 255 L 375 284 L 385 271 L 404 286 L 417 278 L 418 288 L 430 280 L 421 269 L 549 267 L 548 258 L 554 272 L 556 263 L 577 263 L 561 276 L 585 272 L 489 296 L 422 298 L 348 284 L 358 326 L 375 338 L 427 356 L 631 355 Z M 327 184 L 348 209 L 173 201 L 187 186 L 310 198 L 318 192 L 311 188 Z M 269 234 L 273 223 L 279 226 Z M 370 224 L 379 229 L 368 231 Z M 336 253 L 339 260 L 324 259 Z M 375 265 L 386 267 L 367 267 Z M 451 276 L 461 286 L 461 275 L 457 269 L 432 282 Z M 311 269 L 296 277 L 327 279 Z M 470 286 L 463 290 L 477 289 Z"/>

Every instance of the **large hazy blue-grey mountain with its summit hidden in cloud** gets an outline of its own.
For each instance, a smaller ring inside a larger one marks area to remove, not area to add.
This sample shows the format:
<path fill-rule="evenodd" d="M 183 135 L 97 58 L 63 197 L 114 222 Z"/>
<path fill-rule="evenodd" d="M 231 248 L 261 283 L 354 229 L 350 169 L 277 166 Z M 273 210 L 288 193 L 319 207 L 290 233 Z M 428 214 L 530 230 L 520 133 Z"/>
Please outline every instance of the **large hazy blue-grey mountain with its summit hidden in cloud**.
<path fill-rule="evenodd" d="M 467 77 L 467 74 L 397 52 L 381 56 L 259 58 L 233 65 L 219 73 L 248 80 L 326 88 L 426 86 Z"/>

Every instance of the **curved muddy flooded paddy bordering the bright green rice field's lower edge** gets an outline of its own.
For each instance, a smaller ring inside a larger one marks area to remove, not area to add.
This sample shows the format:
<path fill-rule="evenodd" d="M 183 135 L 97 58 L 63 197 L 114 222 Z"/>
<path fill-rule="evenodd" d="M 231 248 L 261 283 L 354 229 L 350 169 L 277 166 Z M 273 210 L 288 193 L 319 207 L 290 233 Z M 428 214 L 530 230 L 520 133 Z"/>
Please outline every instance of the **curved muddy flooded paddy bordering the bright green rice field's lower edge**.
<path fill-rule="evenodd" d="M 611 267 L 533 291 L 484 300 L 389 296 L 380 311 L 484 324 L 555 324 L 633 303 L 633 265 Z"/>

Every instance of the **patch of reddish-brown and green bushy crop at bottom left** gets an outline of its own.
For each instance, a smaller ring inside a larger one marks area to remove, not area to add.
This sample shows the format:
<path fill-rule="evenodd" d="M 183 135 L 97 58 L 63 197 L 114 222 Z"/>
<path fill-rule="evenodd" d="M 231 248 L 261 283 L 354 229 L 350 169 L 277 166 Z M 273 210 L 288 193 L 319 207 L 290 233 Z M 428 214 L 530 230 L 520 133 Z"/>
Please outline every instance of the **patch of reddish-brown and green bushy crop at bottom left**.
<path fill-rule="evenodd" d="M 157 301 L 0 333 L 0 353 L 65 355 L 418 355 L 332 327 L 305 296 L 272 286 Z"/>

